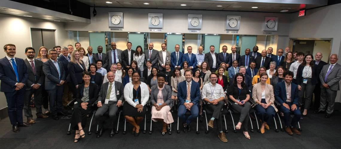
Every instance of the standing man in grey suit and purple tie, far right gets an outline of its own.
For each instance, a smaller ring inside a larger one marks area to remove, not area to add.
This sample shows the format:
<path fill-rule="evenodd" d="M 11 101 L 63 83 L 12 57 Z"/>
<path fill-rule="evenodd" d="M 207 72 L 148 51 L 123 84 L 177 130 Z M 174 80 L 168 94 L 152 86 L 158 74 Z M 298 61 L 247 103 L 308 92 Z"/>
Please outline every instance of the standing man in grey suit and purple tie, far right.
<path fill-rule="evenodd" d="M 333 113 L 334 103 L 337 91 L 339 90 L 339 81 L 341 79 L 341 65 L 337 63 L 338 56 L 336 54 L 330 55 L 330 64 L 323 66 L 320 73 L 321 80 L 321 101 L 320 108 L 314 113 L 323 113 L 326 111 L 326 118 Z M 328 101 L 328 108 L 326 105 Z"/>

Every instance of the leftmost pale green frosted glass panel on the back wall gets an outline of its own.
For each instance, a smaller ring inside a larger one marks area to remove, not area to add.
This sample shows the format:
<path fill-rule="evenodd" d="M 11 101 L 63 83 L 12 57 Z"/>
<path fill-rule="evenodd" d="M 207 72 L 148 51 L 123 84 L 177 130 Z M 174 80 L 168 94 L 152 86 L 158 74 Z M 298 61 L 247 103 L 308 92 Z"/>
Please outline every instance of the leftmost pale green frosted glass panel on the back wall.
<path fill-rule="evenodd" d="M 105 52 L 105 33 L 89 33 L 90 46 L 92 46 L 92 53 L 98 53 L 97 47 L 103 47 L 103 53 Z"/>

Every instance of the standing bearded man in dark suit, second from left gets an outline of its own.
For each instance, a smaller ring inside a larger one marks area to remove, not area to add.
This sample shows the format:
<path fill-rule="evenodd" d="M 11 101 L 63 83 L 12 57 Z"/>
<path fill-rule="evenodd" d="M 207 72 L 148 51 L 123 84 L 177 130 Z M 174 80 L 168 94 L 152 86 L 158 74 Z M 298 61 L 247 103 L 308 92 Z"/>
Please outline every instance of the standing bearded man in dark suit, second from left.
<path fill-rule="evenodd" d="M 32 47 L 25 49 L 25 54 L 27 56 L 24 62 L 27 66 L 28 80 L 26 84 L 25 92 L 25 102 L 24 102 L 24 113 L 27 117 L 27 123 L 35 124 L 33 120 L 30 101 L 32 95 L 34 95 L 34 105 L 36 108 L 36 116 L 38 118 L 46 118 L 47 115 L 42 113 L 42 87 L 44 83 L 44 72 L 43 72 L 43 62 L 34 59 L 35 51 Z"/>

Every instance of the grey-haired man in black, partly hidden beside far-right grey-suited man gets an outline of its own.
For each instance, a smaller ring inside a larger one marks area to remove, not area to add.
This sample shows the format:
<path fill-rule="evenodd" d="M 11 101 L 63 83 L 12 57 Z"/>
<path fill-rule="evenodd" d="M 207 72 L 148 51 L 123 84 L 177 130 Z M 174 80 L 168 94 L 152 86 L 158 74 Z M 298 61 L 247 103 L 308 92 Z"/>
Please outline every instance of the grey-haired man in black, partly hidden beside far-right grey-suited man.
<path fill-rule="evenodd" d="M 321 70 L 323 68 L 323 66 L 325 66 L 327 63 L 322 61 L 323 55 L 321 52 L 317 52 L 315 54 L 315 60 L 313 61 L 315 63 L 315 65 L 317 65 L 317 73 L 320 74 Z M 317 84 L 315 85 L 315 89 L 314 89 L 314 110 L 318 110 L 318 108 L 320 107 L 320 97 L 321 97 L 321 80 L 317 79 Z"/>

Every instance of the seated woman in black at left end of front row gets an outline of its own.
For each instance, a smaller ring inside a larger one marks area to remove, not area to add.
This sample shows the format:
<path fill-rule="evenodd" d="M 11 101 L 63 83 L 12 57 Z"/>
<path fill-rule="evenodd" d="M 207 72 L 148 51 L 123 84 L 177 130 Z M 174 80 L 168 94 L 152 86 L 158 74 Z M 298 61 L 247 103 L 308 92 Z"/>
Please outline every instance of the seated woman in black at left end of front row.
<path fill-rule="evenodd" d="M 80 138 L 85 137 L 85 132 L 83 128 L 85 127 L 87 114 L 93 110 L 92 104 L 97 100 L 98 89 L 95 83 L 91 83 L 90 72 L 83 72 L 84 83 L 80 84 L 77 88 L 77 104 L 73 106 L 73 113 L 71 117 L 71 128 L 76 130 L 75 143 L 79 141 Z"/>

